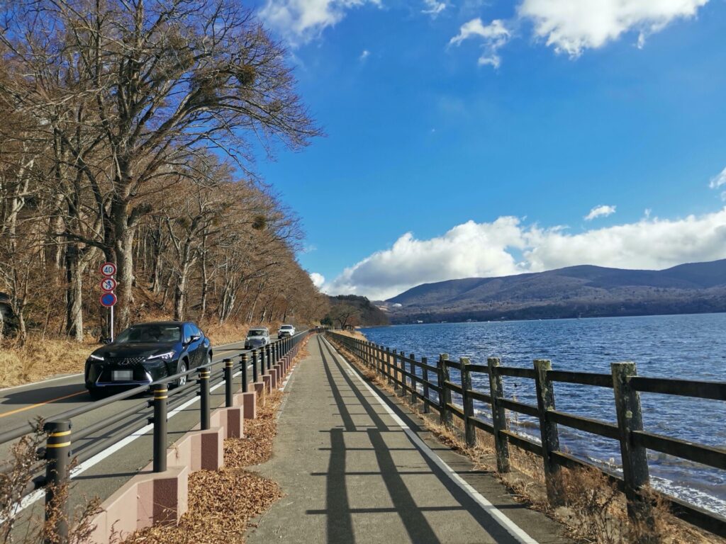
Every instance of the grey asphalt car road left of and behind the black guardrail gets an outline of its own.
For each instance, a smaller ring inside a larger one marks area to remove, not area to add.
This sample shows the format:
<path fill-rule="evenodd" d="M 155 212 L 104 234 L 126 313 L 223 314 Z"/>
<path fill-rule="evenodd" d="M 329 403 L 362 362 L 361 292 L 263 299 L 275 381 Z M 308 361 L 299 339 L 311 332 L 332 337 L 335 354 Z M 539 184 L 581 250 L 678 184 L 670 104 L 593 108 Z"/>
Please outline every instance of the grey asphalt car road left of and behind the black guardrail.
<path fill-rule="evenodd" d="M 274 338 L 276 339 L 276 338 Z M 234 371 L 239 371 L 239 358 L 236 356 L 244 351 L 244 342 L 226 344 L 213 347 L 213 363 L 224 358 L 234 357 Z M 221 369 L 221 365 L 213 369 L 212 376 Z M 248 364 L 248 380 L 252 383 L 252 366 Z M 190 376 L 190 381 L 193 376 Z M 242 378 L 234 378 L 235 390 L 240 390 Z M 215 387 L 218 386 L 218 387 Z M 224 382 L 219 379 L 211 382 L 211 408 L 218 408 L 224 405 Z M 73 408 L 94 403 L 83 384 L 83 374 L 64 376 L 57 379 L 50 379 L 44 382 L 25 384 L 19 387 L 12 387 L 0 391 L 0 429 L 3 431 L 14 429 L 17 426 L 33 421 L 38 416 L 44 419 L 52 419 L 58 414 Z M 115 490 L 126 483 L 135 474 L 139 474 L 144 466 L 152 461 L 152 433 L 150 429 L 144 432 L 136 432 L 129 436 L 129 426 L 134 420 L 139 419 L 139 412 L 146 410 L 147 401 L 150 395 L 136 395 L 129 399 L 120 400 L 110 405 L 105 405 L 96 410 L 84 413 L 73 418 L 73 431 L 79 432 L 91 424 L 104 421 L 127 408 L 134 405 L 139 411 L 132 413 L 125 419 L 107 426 L 85 437 L 81 440 L 73 440 L 73 455 L 81 455 L 86 448 L 96 444 L 99 440 L 114 437 L 113 446 L 107 448 L 96 456 L 84 461 L 78 467 L 73 476 L 73 491 L 70 493 L 72 504 L 81 504 L 88 498 L 98 497 L 105 500 Z M 170 401 L 172 399 L 170 398 Z M 142 423 L 145 419 L 142 421 Z M 200 405 L 198 397 L 191 397 L 178 409 L 168 413 L 168 445 L 179 440 L 186 432 L 189 432 L 200 421 Z M 73 434 L 71 434 L 73 438 Z M 15 441 L 14 441 L 15 442 Z M 9 448 L 13 442 L 0 445 L 0 461 L 7 461 Z M 41 491 L 36 491 L 36 496 L 41 498 Z M 29 495 L 30 505 L 23 511 L 16 531 L 23 531 L 30 519 L 30 514 L 42 516 L 42 500 L 32 503 L 33 495 Z"/>

